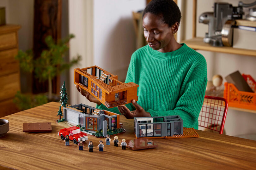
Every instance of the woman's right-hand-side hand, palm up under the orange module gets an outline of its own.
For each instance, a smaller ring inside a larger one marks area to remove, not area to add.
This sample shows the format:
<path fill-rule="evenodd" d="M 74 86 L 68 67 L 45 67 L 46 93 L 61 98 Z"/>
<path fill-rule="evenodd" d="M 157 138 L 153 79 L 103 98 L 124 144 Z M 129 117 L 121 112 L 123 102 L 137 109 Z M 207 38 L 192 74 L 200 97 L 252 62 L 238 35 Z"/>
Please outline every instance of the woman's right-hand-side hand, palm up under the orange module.
<path fill-rule="evenodd" d="M 125 105 L 118 106 L 117 108 L 126 119 L 132 119 L 133 117 L 151 117 L 150 113 L 146 112 L 134 99 L 132 100 L 132 105 L 136 110 L 130 111 Z"/>

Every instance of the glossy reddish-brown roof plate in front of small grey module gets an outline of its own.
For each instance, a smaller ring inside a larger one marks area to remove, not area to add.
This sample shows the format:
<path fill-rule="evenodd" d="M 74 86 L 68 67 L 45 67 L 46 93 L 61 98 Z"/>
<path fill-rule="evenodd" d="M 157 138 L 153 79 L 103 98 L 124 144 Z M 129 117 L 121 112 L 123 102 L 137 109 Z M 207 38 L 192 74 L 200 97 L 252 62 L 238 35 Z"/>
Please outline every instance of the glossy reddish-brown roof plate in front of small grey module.
<path fill-rule="evenodd" d="M 126 140 L 126 143 L 126 147 L 130 148 L 131 150 L 149 149 L 157 147 L 157 145 L 152 140 L 147 138 Z"/>

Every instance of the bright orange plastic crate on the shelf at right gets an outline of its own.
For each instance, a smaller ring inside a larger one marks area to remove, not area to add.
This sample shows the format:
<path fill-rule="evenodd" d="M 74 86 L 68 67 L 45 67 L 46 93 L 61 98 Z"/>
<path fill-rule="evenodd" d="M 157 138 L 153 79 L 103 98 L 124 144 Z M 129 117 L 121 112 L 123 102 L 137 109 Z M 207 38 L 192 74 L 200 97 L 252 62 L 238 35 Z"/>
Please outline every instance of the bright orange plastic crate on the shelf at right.
<path fill-rule="evenodd" d="M 232 83 L 225 82 L 224 85 L 224 98 L 229 106 L 256 110 L 256 93 L 239 91 Z"/>

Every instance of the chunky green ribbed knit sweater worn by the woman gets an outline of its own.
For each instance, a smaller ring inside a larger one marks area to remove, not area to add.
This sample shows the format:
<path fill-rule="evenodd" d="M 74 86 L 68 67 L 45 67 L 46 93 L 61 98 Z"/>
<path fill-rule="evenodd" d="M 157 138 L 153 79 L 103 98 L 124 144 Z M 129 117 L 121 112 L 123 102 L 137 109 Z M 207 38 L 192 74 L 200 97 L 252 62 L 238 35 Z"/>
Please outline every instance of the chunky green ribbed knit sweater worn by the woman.
<path fill-rule="evenodd" d="M 137 103 L 151 116 L 180 115 L 184 127 L 198 129 L 207 83 L 206 61 L 186 44 L 181 45 L 168 53 L 148 45 L 139 48 L 131 56 L 125 82 L 139 85 Z M 135 110 L 132 103 L 126 106 Z M 101 104 L 97 108 L 119 113 L 117 107 L 107 109 Z"/>

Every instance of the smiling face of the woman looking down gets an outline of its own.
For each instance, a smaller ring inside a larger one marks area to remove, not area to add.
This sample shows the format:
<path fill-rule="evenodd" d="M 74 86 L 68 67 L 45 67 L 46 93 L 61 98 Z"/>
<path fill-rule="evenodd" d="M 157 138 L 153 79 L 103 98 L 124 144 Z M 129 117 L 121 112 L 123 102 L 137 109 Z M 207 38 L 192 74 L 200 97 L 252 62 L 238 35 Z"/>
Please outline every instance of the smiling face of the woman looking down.
<path fill-rule="evenodd" d="M 144 14 L 142 26 L 149 47 L 159 52 L 169 52 L 172 46 L 173 29 L 164 23 L 162 16 Z"/>

